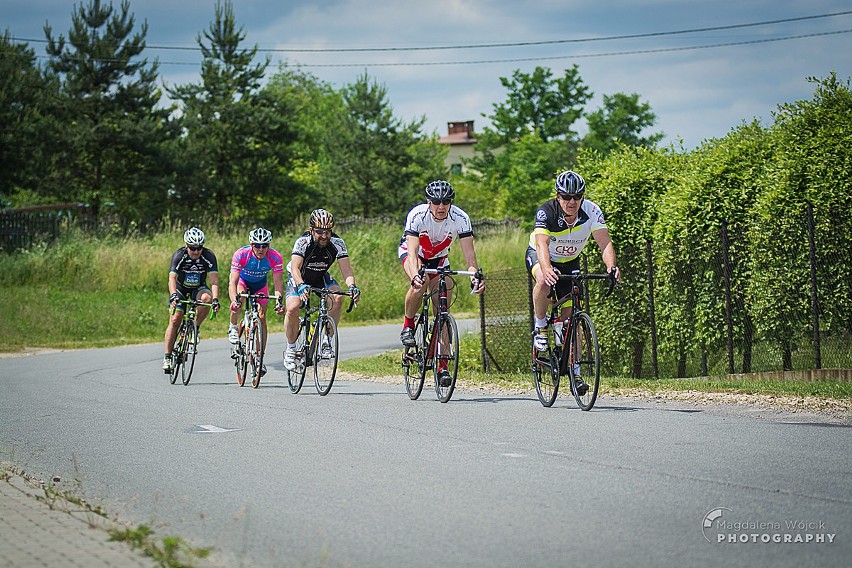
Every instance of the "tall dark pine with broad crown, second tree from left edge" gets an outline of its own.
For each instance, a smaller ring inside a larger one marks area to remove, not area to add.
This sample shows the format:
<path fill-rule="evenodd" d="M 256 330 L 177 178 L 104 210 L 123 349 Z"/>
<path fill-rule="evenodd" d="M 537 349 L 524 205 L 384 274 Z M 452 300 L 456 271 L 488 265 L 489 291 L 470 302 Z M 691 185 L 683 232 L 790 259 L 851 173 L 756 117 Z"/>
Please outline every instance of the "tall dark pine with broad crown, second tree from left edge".
<path fill-rule="evenodd" d="M 167 110 L 157 109 L 157 63 L 140 56 L 147 22 L 133 33 L 135 18 L 124 0 L 91 0 L 74 7 L 68 40 L 45 25 L 49 66 L 61 80 L 52 191 L 65 200 L 87 201 L 97 214 L 102 203 L 131 218 L 161 213 L 168 185 L 162 143 L 169 137 Z"/>

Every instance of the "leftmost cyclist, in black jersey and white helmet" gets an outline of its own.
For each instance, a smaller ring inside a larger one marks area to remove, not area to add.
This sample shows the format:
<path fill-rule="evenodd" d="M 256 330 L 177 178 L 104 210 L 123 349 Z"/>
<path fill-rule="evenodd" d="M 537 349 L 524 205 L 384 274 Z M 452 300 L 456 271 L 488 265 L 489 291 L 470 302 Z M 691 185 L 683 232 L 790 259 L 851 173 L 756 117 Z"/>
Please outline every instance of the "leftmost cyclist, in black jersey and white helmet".
<path fill-rule="evenodd" d="M 166 327 L 166 352 L 163 355 L 163 371 L 166 373 L 172 370 L 172 349 L 177 330 L 183 321 L 183 304 L 178 302 L 193 299 L 212 303 L 213 310 L 219 312 L 219 267 L 216 255 L 204 246 L 204 232 L 198 227 L 188 229 L 183 234 L 183 241 L 185 246 L 174 252 L 169 268 L 169 309 L 174 312 Z M 196 316 L 199 326 L 209 312 L 210 308 L 199 306 Z"/>

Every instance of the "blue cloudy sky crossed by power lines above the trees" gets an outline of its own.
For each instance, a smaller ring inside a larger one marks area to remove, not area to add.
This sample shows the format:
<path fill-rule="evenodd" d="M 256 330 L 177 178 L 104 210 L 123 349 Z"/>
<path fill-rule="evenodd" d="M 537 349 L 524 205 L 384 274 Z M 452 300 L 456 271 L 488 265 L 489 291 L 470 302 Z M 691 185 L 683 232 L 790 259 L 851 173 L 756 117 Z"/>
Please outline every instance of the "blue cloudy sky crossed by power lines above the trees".
<path fill-rule="evenodd" d="M 43 55 L 44 25 L 54 36 L 67 36 L 72 10 L 80 5 L 3 0 L 0 31 Z M 137 29 L 148 24 L 145 56 L 159 60 L 165 84 L 200 83 L 197 38 L 210 27 L 214 5 L 215 0 L 131 0 Z M 561 77 L 576 64 L 594 93 L 587 112 L 600 108 L 603 95 L 638 94 L 657 116 L 646 133 L 662 132 L 664 144 L 685 149 L 723 137 L 743 121 L 771 124 L 779 104 L 813 98 L 808 77 L 824 78 L 832 71 L 844 81 L 852 76 L 850 0 L 234 0 L 233 5 L 246 36 L 243 46 L 256 45 L 272 61 L 267 77 L 281 64 L 301 66 L 342 88 L 366 72 L 387 88 L 397 118 L 425 117 L 424 131 L 439 136 L 447 134 L 451 121 L 473 120 L 476 130 L 490 124 L 494 105 L 507 96 L 500 78 L 515 70 L 532 73 L 537 66 Z M 850 13 L 814 17 L 838 12 Z M 797 18 L 808 19 L 766 23 Z M 576 127 L 585 131 L 583 121 Z"/>

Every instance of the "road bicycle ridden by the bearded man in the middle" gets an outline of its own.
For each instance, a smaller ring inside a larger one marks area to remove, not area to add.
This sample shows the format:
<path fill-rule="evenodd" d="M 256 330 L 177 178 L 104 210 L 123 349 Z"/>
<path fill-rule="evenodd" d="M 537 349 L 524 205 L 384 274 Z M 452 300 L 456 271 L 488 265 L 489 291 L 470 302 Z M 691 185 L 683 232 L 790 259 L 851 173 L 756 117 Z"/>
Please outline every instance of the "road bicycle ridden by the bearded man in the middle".
<path fill-rule="evenodd" d="M 314 384 L 317 392 L 320 396 L 325 396 L 334 384 L 339 351 L 337 324 L 328 313 L 328 296 L 349 296 L 349 308 L 346 313 L 351 312 L 356 304 L 350 291 L 312 286 L 310 294 L 318 296 L 320 303 L 319 306 L 312 308 L 309 295 L 308 302 L 302 309 L 299 333 L 296 336 L 296 368 L 291 371 L 285 367 L 287 384 L 290 385 L 290 392 L 298 393 L 305 380 L 307 367 L 310 366 L 314 369 Z"/>

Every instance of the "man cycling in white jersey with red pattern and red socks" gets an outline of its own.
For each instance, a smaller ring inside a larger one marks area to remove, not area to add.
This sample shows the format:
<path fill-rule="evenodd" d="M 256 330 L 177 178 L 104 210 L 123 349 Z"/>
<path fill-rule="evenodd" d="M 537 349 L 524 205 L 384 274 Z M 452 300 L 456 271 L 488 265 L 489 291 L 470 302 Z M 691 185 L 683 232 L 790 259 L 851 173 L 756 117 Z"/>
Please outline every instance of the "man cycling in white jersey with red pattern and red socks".
<path fill-rule="evenodd" d="M 453 205 L 456 191 L 449 182 L 436 180 L 426 186 L 426 203 L 421 203 L 408 212 L 405 219 L 405 231 L 399 243 L 399 259 L 402 268 L 411 281 L 411 287 L 405 293 L 405 321 L 399 339 L 403 345 L 414 346 L 414 317 L 423 301 L 423 294 L 435 291 L 438 279 L 429 275 L 421 277 L 420 267 L 449 268 L 450 245 L 459 242 L 464 255 L 467 270 L 476 272 L 476 250 L 473 246 L 473 226 L 470 217 L 461 208 Z M 477 294 L 485 291 L 485 282 L 470 279 Z M 452 281 L 447 282 L 447 293 L 452 296 Z M 437 302 L 435 303 L 437 310 Z M 449 378 L 446 369 L 441 370 Z M 442 376 L 442 382 L 444 377 Z"/>

